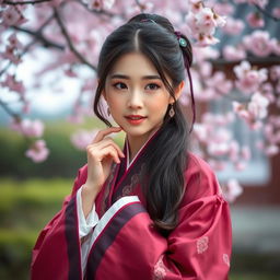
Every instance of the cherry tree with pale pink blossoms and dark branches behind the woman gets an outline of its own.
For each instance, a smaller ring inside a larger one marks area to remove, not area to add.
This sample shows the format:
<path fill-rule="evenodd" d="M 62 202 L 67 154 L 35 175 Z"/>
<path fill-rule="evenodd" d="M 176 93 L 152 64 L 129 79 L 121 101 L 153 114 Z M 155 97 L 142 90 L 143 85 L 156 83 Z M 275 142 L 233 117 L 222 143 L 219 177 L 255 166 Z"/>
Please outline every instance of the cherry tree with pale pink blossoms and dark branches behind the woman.
<path fill-rule="evenodd" d="M 244 19 L 234 18 L 241 4 L 249 7 L 249 13 Z M 232 101 L 226 114 L 213 114 L 203 106 L 192 133 L 198 152 L 215 171 L 229 163 L 244 170 L 250 160 L 250 147 L 242 147 L 229 128 L 236 118 L 243 119 L 248 129 L 264 131 L 258 148 L 267 156 L 279 154 L 280 116 L 275 112 L 280 108 L 280 43 L 266 31 L 266 23 L 279 24 L 280 7 L 268 11 L 268 0 L 0 0 L 0 84 L 20 104 L 15 109 L 0 96 L 0 106 L 11 118 L 10 128 L 30 140 L 26 156 L 34 162 L 46 160 L 49 150 L 44 141 L 44 122 L 30 117 L 31 90 L 36 89 L 37 94 L 43 88 L 56 91 L 54 82 L 44 80 L 49 73 L 80 81 L 68 120 L 82 121 L 92 112 L 96 61 L 107 34 L 139 12 L 163 14 L 192 42 L 197 106 L 221 98 Z M 246 26 L 253 32 L 241 36 Z M 238 40 L 219 48 L 223 35 Z M 259 67 L 252 59 L 268 57 L 275 61 L 269 67 Z M 40 69 L 26 84 L 19 79 L 18 70 L 30 59 L 36 60 Z M 214 68 L 219 59 L 233 66 L 230 73 Z M 189 104 L 188 89 L 185 86 L 180 97 L 183 106 Z M 235 96 L 235 91 L 243 98 Z M 72 143 L 84 149 L 94 133 L 78 131 Z M 229 180 L 226 189 L 231 201 L 242 192 L 234 179 Z"/>

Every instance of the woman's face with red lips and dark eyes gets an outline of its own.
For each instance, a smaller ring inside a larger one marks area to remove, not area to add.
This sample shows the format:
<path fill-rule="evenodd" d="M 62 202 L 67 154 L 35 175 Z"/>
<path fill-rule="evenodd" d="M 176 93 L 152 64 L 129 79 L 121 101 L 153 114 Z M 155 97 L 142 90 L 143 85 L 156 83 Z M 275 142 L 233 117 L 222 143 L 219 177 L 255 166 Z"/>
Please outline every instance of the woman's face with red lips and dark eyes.
<path fill-rule="evenodd" d="M 117 60 L 103 95 L 128 139 L 142 142 L 160 128 L 168 104 L 174 102 L 152 62 L 140 52 Z"/>

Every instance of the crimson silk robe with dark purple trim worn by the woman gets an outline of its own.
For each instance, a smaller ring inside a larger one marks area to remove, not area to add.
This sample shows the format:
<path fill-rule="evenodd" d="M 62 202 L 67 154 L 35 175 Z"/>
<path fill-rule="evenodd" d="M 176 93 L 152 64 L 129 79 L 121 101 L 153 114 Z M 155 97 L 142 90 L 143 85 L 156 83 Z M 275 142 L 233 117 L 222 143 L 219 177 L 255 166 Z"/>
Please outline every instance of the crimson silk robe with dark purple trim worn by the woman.
<path fill-rule="evenodd" d="M 145 145 L 152 145 L 150 140 Z M 151 148 L 151 147 L 150 147 Z M 215 175 L 188 154 L 179 222 L 168 237 L 154 228 L 141 191 L 147 147 L 126 170 L 114 164 L 95 206 L 100 217 L 82 273 L 77 190 L 85 183 L 79 171 L 72 194 L 42 231 L 33 250 L 33 280 L 225 280 L 231 257 L 231 219 Z"/>

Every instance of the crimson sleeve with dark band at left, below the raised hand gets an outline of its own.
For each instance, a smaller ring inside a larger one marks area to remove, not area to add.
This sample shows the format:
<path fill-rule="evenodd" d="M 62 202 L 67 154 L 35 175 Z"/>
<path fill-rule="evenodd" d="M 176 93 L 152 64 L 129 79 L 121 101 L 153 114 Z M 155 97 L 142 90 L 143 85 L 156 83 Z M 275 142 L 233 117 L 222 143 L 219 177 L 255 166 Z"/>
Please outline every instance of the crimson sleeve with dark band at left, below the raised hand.
<path fill-rule="evenodd" d="M 85 183 L 86 165 L 79 170 L 72 192 L 61 210 L 43 229 L 32 252 L 31 279 L 68 279 L 69 271 L 80 279 L 81 252 L 77 191 Z M 70 264 L 75 261 L 75 267 Z"/>

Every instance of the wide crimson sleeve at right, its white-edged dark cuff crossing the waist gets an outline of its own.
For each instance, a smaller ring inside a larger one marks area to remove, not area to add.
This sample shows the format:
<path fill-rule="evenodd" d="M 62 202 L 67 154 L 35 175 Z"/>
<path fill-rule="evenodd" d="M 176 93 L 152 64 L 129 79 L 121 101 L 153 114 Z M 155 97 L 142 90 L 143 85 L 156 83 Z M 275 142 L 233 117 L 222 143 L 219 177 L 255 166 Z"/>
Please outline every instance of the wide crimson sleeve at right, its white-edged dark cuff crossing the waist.
<path fill-rule="evenodd" d="M 114 280 L 228 279 L 232 240 L 228 202 L 202 160 L 192 156 L 185 175 L 179 221 L 167 238 L 133 197 L 108 209 L 93 233 L 86 279 L 110 279 L 112 271 Z"/>

